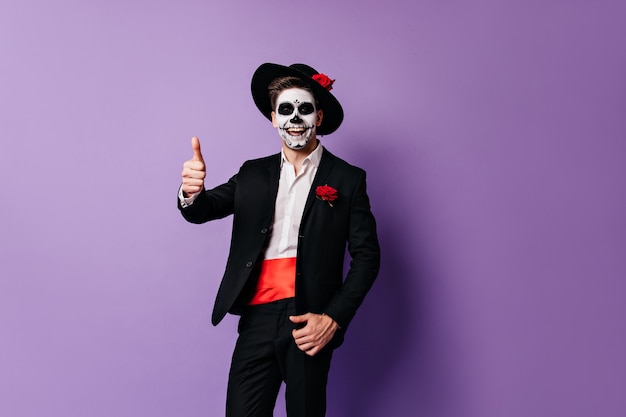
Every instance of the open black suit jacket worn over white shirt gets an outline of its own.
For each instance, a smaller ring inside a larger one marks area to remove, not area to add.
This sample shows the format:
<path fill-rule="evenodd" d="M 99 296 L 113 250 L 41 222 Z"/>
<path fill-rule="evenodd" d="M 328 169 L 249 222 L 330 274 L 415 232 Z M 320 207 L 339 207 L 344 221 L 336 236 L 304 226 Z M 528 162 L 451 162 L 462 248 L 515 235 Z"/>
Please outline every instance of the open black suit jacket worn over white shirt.
<path fill-rule="evenodd" d="M 271 233 L 280 161 L 280 154 L 247 161 L 237 175 L 205 190 L 191 206 L 182 208 L 179 203 L 182 215 L 192 223 L 233 214 L 230 254 L 215 300 L 214 325 L 227 312 L 240 314 L 254 290 Z M 316 198 L 319 185 L 338 190 L 332 207 Z M 344 279 L 346 245 L 352 259 Z M 365 171 L 324 149 L 300 225 L 296 312 L 325 313 L 345 331 L 372 286 L 379 264 L 380 249 Z M 338 332 L 341 340 L 343 331 Z"/>

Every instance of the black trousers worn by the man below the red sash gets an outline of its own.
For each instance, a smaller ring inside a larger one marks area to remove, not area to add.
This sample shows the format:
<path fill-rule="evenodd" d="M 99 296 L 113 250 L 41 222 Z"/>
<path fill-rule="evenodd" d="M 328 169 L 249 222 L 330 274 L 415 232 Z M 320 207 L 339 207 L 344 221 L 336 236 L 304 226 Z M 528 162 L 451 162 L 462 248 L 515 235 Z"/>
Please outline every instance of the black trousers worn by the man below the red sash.
<path fill-rule="evenodd" d="M 226 417 L 271 417 L 281 382 L 289 417 L 323 417 L 331 349 L 311 357 L 296 346 L 293 299 L 249 306 L 228 378 Z"/>

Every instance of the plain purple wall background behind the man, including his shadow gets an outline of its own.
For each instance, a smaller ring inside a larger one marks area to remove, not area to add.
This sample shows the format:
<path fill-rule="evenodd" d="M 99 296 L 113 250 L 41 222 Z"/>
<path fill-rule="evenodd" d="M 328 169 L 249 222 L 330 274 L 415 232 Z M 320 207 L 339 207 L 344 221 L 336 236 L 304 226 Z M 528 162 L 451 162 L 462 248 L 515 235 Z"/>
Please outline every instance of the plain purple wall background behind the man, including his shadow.
<path fill-rule="evenodd" d="M 329 417 L 626 415 L 623 4 L 2 0 L 0 415 L 223 414 L 230 220 L 175 193 L 278 150 L 262 62 L 336 78 L 379 223 Z"/>

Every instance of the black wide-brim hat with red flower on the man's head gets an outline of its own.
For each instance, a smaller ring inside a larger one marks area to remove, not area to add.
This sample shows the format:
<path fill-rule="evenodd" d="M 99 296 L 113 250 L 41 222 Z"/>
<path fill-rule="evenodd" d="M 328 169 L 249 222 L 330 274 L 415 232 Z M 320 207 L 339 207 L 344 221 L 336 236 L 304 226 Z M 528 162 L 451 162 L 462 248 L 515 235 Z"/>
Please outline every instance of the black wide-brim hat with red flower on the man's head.
<path fill-rule="evenodd" d="M 316 81 L 313 79 L 313 76 L 316 76 L 318 79 L 321 78 L 321 80 Z M 322 124 L 316 129 L 319 135 L 328 135 L 339 128 L 343 121 L 343 108 L 329 91 L 333 80 L 305 64 L 292 64 L 286 67 L 268 62 L 257 68 L 252 76 L 252 98 L 263 116 L 272 120 L 272 111 L 274 109 L 272 108 L 267 88 L 278 77 L 300 78 L 313 91 L 319 109 L 324 112 Z M 325 83 L 326 86 L 323 86 L 322 83 Z"/>

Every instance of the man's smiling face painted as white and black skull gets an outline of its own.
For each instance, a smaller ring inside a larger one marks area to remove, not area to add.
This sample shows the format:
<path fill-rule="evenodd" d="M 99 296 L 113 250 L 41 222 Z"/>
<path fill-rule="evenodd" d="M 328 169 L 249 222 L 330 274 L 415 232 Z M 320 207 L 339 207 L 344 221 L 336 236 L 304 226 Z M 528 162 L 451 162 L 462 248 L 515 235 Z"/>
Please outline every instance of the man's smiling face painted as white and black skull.
<path fill-rule="evenodd" d="M 307 90 L 290 88 L 278 95 L 272 124 L 290 149 L 304 148 L 315 138 L 315 128 L 320 122 L 315 98 Z"/>

